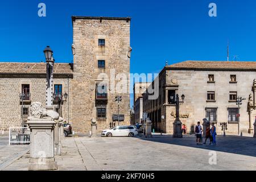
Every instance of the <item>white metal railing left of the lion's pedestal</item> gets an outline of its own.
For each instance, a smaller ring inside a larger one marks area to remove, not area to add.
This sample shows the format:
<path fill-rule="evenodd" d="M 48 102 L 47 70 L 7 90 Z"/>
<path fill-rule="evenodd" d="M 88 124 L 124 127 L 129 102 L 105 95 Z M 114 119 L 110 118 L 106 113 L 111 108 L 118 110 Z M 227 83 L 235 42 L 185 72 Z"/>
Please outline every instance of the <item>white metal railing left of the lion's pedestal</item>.
<path fill-rule="evenodd" d="M 28 127 L 10 127 L 10 144 L 30 144 L 30 129 Z"/>

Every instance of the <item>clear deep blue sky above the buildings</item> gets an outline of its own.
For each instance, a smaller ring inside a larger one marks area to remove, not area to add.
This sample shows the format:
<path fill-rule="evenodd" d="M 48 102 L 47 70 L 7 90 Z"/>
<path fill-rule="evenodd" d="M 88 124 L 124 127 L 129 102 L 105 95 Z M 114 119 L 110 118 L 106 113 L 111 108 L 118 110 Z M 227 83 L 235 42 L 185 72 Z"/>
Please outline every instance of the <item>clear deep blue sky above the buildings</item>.
<path fill-rule="evenodd" d="M 46 3 L 45 18 L 38 4 Z M 209 3 L 217 17 L 209 17 Z M 184 60 L 256 60 L 256 1 L 3 1 L 0 61 L 44 61 L 51 46 L 57 62 L 71 62 L 72 15 L 131 16 L 131 73 L 159 72 Z M 131 101 L 132 102 L 132 101 Z"/>

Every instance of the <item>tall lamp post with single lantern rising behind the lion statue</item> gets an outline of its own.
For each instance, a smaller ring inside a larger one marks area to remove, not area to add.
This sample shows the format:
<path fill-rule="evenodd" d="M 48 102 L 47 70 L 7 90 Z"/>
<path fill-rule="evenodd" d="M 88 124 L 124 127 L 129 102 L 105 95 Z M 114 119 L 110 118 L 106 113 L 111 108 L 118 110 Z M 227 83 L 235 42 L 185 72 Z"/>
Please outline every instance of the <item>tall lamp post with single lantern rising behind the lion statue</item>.
<path fill-rule="evenodd" d="M 53 109 L 52 106 L 52 101 L 53 101 L 53 65 L 54 65 L 54 60 L 53 60 L 53 51 L 52 49 L 47 46 L 44 49 L 44 56 L 46 56 L 46 63 L 47 63 L 47 68 L 46 68 L 46 81 L 47 81 L 47 88 L 46 88 L 46 108 L 49 110 Z"/>

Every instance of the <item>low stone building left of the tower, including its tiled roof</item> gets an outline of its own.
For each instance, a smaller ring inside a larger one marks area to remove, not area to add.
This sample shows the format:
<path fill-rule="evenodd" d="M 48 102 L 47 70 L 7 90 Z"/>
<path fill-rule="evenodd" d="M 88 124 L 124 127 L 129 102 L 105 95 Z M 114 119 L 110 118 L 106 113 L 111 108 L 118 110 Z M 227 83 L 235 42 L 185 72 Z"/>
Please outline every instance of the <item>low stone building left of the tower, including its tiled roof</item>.
<path fill-rule="evenodd" d="M 53 85 L 61 96 L 68 93 L 61 104 L 61 115 L 72 121 L 72 64 L 54 65 Z M 25 93 L 23 104 L 20 93 Z M 55 94 L 56 95 L 56 94 Z M 59 112 L 57 96 L 53 107 Z M 46 107 L 45 63 L 0 63 L 0 130 L 26 126 L 28 110 L 32 102 L 41 102 Z"/>

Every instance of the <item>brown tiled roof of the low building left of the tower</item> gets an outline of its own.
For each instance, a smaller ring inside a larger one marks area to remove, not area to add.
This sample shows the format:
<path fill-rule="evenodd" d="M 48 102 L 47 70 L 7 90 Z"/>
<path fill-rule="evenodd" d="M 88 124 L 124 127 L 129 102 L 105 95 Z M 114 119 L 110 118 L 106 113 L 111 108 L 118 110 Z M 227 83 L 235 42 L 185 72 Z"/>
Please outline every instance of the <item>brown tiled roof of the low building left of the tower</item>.
<path fill-rule="evenodd" d="M 46 74 L 46 63 L 6 63 L 0 62 L 0 74 Z M 55 75 L 72 75 L 72 64 L 55 63 Z"/>

